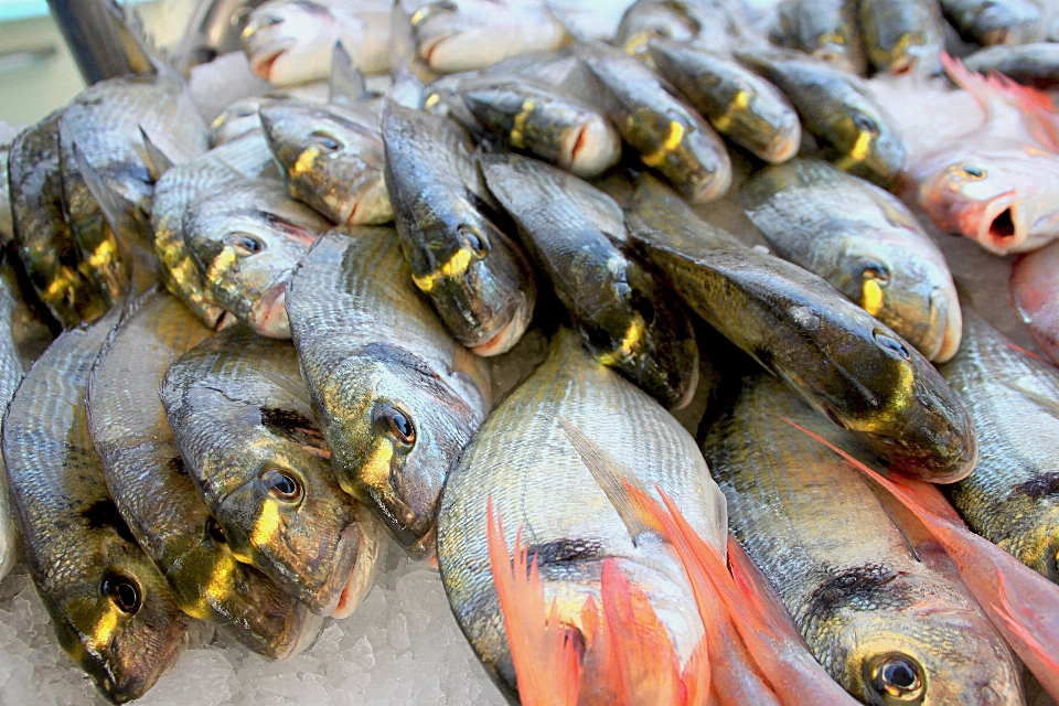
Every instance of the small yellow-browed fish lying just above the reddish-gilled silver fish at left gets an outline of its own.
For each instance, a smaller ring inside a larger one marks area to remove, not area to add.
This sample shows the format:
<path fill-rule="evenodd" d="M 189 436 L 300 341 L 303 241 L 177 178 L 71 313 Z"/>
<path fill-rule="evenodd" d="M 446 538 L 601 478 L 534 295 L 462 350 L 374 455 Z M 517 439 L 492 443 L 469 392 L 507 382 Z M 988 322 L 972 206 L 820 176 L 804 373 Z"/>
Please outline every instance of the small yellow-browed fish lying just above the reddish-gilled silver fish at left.
<path fill-rule="evenodd" d="M 338 224 L 394 220 L 377 113 L 275 100 L 260 121 L 291 196 Z"/>

